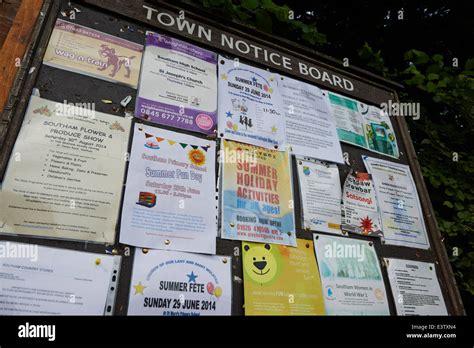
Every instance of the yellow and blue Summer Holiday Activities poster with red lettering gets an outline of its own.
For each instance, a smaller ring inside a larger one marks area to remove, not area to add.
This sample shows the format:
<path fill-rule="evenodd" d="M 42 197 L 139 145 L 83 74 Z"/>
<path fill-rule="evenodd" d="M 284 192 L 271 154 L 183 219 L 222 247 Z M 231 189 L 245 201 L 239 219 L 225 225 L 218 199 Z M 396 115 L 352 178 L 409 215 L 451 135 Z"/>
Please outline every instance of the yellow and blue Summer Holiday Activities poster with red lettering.
<path fill-rule="evenodd" d="M 296 246 L 287 152 L 224 140 L 222 238 Z"/>

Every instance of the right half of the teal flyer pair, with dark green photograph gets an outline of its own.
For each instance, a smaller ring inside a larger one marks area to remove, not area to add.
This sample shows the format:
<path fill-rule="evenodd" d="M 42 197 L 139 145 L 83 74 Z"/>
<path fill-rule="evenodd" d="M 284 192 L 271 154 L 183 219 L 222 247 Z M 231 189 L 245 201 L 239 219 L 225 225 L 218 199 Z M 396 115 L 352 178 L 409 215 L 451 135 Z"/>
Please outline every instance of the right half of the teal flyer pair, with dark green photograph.
<path fill-rule="evenodd" d="M 365 137 L 370 151 L 399 158 L 397 138 L 390 117 L 382 109 L 359 103 L 364 120 Z"/>

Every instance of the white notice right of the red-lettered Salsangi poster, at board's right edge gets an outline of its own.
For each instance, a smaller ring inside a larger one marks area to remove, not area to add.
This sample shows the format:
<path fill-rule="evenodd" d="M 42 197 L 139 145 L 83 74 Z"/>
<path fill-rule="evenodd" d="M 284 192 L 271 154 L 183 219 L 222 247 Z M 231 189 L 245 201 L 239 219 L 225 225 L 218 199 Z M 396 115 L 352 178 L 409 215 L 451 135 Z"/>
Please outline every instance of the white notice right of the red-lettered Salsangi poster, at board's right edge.
<path fill-rule="evenodd" d="M 362 156 L 372 175 L 387 244 L 428 249 L 429 241 L 410 167 Z"/>

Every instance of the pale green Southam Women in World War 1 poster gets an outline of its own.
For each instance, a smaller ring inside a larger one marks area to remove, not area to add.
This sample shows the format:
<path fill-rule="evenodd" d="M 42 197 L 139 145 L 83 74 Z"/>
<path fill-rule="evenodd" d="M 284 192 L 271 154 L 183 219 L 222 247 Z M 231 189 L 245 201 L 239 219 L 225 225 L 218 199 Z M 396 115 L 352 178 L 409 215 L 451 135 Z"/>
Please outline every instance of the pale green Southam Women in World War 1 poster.
<path fill-rule="evenodd" d="M 382 272 L 371 242 L 314 234 L 328 315 L 390 315 Z"/>

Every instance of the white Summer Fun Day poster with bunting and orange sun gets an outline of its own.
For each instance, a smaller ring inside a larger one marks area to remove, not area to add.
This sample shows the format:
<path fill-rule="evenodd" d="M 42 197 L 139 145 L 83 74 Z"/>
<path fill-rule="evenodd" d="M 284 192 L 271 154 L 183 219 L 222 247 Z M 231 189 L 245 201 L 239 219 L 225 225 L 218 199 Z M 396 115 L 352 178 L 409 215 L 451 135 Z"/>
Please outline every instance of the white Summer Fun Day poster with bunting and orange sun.
<path fill-rule="evenodd" d="M 215 254 L 216 144 L 136 124 L 120 242 Z"/>

